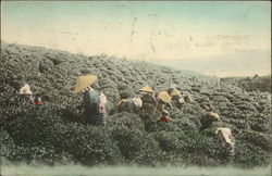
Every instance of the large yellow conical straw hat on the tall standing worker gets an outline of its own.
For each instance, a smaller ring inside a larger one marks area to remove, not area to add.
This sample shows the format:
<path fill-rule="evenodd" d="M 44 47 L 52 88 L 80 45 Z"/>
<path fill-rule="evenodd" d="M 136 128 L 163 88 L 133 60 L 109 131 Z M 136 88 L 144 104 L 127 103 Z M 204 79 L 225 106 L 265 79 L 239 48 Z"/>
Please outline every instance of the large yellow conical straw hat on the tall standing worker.
<path fill-rule="evenodd" d="M 77 77 L 76 86 L 74 92 L 81 92 L 90 85 L 92 85 L 97 80 L 96 75 L 89 75 L 89 76 L 79 76 Z"/>

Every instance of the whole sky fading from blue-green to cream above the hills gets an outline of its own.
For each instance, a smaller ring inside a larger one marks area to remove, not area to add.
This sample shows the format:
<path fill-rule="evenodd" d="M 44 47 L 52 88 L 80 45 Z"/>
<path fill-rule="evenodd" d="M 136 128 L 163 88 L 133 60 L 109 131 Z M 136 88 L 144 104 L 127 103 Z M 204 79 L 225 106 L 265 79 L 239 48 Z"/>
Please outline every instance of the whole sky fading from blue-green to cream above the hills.
<path fill-rule="evenodd" d="M 265 51 L 267 59 L 260 62 L 270 64 L 271 3 L 2 1 L 1 39 L 87 55 L 164 63 Z"/>

